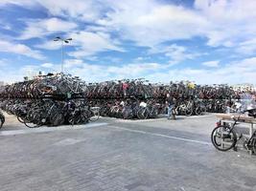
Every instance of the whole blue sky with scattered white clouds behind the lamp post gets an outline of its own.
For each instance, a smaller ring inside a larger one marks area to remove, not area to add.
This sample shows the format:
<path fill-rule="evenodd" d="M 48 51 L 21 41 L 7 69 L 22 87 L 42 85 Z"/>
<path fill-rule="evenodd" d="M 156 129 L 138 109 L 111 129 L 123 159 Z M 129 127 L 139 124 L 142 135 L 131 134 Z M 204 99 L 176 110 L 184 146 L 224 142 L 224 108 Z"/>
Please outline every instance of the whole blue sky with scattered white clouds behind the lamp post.
<path fill-rule="evenodd" d="M 60 71 L 86 81 L 256 80 L 253 0 L 1 0 L 0 80 Z"/>

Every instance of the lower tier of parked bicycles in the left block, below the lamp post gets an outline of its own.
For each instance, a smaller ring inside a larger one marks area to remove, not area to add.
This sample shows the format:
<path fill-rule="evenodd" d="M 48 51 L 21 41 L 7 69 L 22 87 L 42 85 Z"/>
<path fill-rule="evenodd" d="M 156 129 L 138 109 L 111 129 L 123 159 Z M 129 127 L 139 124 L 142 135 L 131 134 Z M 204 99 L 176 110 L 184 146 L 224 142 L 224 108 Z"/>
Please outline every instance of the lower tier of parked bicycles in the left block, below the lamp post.
<path fill-rule="evenodd" d="M 30 128 L 42 125 L 83 124 L 99 118 L 99 110 L 93 110 L 84 99 L 11 99 L 3 101 L 1 108 L 9 115 L 15 115 Z"/>

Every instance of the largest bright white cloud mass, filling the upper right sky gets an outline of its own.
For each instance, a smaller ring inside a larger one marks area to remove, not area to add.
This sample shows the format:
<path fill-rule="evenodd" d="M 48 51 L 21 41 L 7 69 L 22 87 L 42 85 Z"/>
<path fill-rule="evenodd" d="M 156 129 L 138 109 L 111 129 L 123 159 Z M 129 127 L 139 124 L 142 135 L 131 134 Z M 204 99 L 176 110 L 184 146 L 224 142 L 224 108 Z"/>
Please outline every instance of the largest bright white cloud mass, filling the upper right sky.
<path fill-rule="evenodd" d="M 256 1 L 196 0 L 195 9 L 153 0 L 112 2 L 100 24 L 142 46 L 201 36 L 209 46 L 235 47 L 255 37 Z"/>

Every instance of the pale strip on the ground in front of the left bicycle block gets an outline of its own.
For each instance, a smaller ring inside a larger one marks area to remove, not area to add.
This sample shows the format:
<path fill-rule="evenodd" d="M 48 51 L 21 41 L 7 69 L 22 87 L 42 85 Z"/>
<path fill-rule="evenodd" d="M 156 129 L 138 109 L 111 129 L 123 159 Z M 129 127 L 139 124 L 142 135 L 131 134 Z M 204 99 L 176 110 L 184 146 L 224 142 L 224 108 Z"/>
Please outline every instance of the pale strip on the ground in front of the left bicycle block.
<path fill-rule="evenodd" d="M 58 127 L 39 127 L 35 129 L 24 129 L 24 130 L 13 130 L 13 131 L 1 131 L 0 136 L 15 136 L 22 134 L 36 134 L 36 133 L 47 133 L 47 132 L 55 132 L 55 131 L 63 131 L 63 130 L 75 130 L 75 129 L 85 129 L 91 127 L 99 127 L 105 126 L 108 123 L 99 122 L 99 123 L 89 123 L 85 125 L 66 125 L 66 126 L 58 126 Z"/>

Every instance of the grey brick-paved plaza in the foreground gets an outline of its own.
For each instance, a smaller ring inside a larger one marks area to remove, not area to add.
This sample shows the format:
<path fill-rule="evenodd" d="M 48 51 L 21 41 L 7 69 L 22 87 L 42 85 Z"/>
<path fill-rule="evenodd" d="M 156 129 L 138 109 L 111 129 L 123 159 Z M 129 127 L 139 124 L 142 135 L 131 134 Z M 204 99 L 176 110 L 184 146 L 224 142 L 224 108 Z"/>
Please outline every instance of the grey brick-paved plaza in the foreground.
<path fill-rule="evenodd" d="M 0 131 L 0 190 L 256 190 L 255 156 L 219 152 L 217 118 L 123 120 Z"/>

